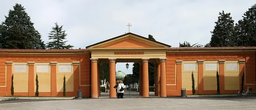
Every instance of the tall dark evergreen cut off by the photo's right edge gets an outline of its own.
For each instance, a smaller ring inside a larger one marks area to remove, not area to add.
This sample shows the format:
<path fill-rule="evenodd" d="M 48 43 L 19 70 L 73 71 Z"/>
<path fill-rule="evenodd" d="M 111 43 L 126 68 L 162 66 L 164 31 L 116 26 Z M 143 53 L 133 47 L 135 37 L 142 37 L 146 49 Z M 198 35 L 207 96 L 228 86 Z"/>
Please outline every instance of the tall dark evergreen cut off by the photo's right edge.
<path fill-rule="evenodd" d="M 251 6 L 244 14 L 243 19 L 236 23 L 236 36 L 238 46 L 256 46 L 256 4 Z"/>

